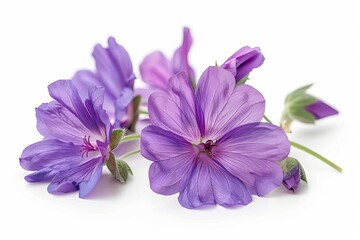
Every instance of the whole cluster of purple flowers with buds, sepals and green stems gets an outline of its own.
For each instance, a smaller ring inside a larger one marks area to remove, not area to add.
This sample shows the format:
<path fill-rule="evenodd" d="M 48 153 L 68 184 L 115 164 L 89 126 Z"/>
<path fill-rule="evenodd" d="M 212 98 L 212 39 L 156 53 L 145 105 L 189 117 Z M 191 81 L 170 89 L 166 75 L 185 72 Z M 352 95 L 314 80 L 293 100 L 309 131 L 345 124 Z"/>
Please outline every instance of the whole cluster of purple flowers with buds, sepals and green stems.
<path fill-rule="evenodd" d="M 28 182 L 49 181 L 50 193 L 79 190 L 84 198 L 104 165 L 126 182 L 132 170 L 125 160 L 140 152 L 152 162 L 154 192 L 179 193 L 185 208 L 229 207 L 247 205 L 253 195 L 264 196 L 281 185 L 296 191 L 301 180 L 307 182 L 300 162 L 289 156 L 291 147 L 341 171 L 288 139 L 292 121 L 314 123 L 338 113 L 306 93 L 311 85 L 286 97 L 279 126 L 264 116 L 263 95 L 246 84 L 265 60 L 260 48 L 242 47 L 196 81 L 188 60 L 192 37 L 184 28 L 182 45 L 170 59 L 160 51 L 144 58 L 139 70 L 147 87 L 141 89 L 134 88 L 128 52 L 112 37 L 108 45 L 94 48 L 96 70 L 80 70 L 70 80 L 49 85 L 53 101 L 36 108 L 43 139 L 20 157 L 20 165 L 33 171 L 25 177 Z M 140 114 L 146 126 L 139 124 Z M 139 138 L 138 150 L 123 145 Z"/>

